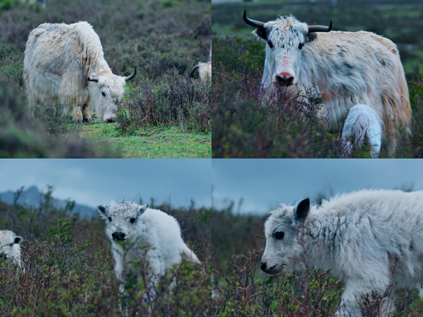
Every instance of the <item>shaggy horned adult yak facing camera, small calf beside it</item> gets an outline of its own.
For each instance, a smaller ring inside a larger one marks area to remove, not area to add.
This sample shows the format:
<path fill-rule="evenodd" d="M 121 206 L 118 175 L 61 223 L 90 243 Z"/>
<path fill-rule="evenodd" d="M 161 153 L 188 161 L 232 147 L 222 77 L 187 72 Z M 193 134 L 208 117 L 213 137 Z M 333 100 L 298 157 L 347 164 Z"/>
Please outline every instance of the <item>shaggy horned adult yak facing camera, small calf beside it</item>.
<path fill-rule="evenodd" d="M 411 107 L 404 69 L 397 46 L 371 32 L 331 31 L 330 26 L 307 25 L 294 16 L 274 21 L 244 21 L 255 26 L 253 35 L 266 43 L 261 83 L 263 103 L 275 96 L 278 85 L 296 93 L 315 87 L 325 101 L 321 115 L 330 114 L 333 131 L 339 131 L 356 104 L 374 109 L 382 123 L 382 142 L 395 154 L 396 134 L 409 131 Z"/>

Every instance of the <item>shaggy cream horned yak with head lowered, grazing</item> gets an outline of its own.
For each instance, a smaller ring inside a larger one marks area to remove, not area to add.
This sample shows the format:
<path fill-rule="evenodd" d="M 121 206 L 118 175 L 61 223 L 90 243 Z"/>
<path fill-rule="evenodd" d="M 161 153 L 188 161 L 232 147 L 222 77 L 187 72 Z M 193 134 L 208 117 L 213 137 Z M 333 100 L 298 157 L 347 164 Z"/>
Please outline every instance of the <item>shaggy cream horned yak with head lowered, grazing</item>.
<path fill-rule="evenodd" d="M 135 65 L 134 65 L 135 68 Z M 30 104 L 57 102 L 73 106 L 75 123 L 111 122 L 125 82 L 135 77 L 114 75 L 104 60 L 100 38 L 88 22 L 44 23 L 28 36 L 24 59 L 25 91 Z"/>

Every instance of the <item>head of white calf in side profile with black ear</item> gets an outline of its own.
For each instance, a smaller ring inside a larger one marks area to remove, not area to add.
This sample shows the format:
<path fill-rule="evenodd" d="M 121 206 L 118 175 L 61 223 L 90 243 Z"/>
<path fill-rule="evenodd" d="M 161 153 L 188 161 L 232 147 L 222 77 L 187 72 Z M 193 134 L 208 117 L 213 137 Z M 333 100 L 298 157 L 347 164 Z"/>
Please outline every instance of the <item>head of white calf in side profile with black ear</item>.
<path fill-rule="evenodd" d="M 310 199 L 302 200 L 297 207 L 282 204 L 264 224 L 266 248 L 261 258 L 261 270 L 269 274 L 294 271 L 297 258 L 299 226 L 310 210 Z"/>

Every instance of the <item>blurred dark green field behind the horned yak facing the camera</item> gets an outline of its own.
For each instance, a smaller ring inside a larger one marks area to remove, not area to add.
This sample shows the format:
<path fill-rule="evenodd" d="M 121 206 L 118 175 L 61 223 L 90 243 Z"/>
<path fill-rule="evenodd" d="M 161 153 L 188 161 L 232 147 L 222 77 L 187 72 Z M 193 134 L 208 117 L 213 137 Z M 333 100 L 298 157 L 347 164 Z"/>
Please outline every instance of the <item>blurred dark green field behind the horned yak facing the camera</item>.
<path fill-rule="evenodd" d="M 333 30 L 375 32 L 398 45 L 407 78 L 418 72 L 423 64 L 423 40 L 416 30 L 423 27 L 423 4 L 412 1 L 274 1 L 259 0 L 212 5 L 212 30 L 217 35 L 252 37 L 253 27 L 242 19 L 247 16 L 262 22 L 278 15 L 293 14 L 309 25 L 329 25 Z"/>

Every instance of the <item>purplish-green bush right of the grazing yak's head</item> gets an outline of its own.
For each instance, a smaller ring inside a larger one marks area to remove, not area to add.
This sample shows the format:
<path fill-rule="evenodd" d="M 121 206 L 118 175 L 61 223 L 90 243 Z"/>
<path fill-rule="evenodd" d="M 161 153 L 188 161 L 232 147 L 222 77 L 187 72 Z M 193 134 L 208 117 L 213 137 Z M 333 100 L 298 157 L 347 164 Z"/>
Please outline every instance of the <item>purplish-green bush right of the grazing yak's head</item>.
<path fill-rule="evenodd" d="M 118 107 L 116 120 L 122 134 L 132 134 L 142 126 L 179 126 L 184 132 L 211 130 L 211 81 L 180 75 L 176 68 L 154 82 L 143 79 Z"/>

